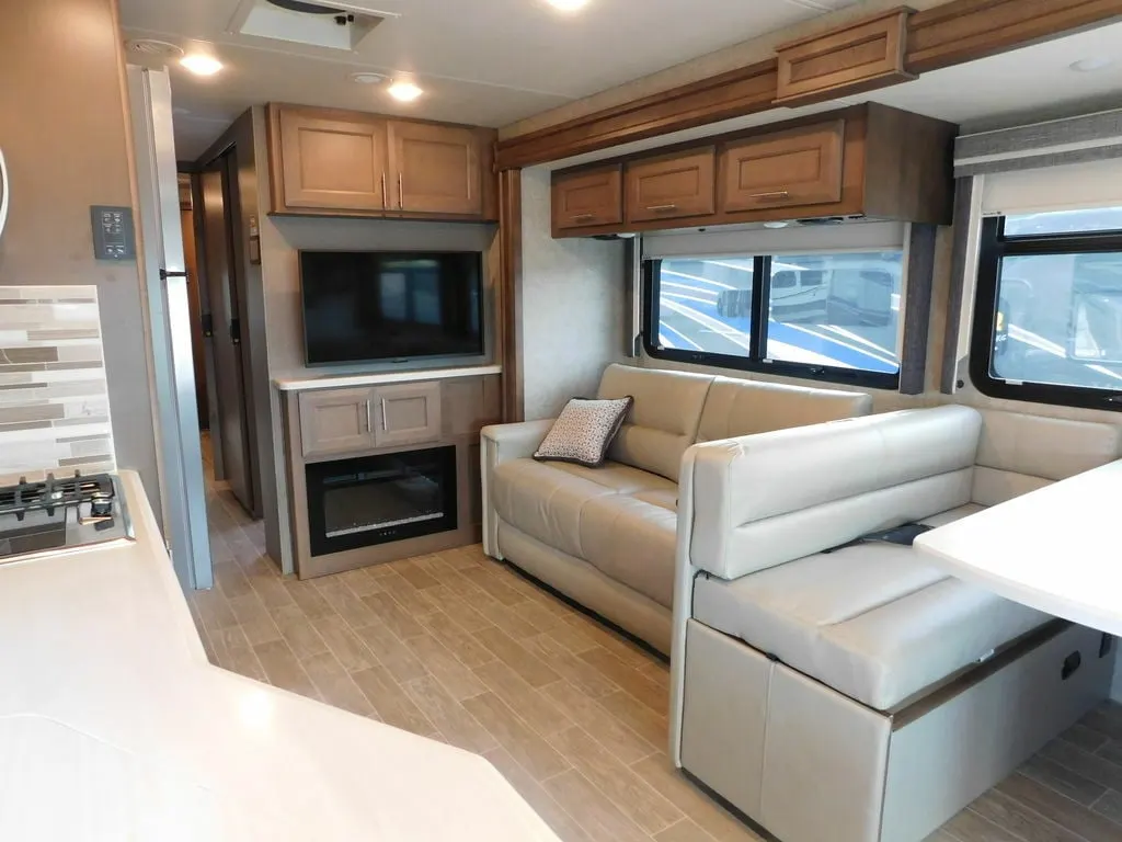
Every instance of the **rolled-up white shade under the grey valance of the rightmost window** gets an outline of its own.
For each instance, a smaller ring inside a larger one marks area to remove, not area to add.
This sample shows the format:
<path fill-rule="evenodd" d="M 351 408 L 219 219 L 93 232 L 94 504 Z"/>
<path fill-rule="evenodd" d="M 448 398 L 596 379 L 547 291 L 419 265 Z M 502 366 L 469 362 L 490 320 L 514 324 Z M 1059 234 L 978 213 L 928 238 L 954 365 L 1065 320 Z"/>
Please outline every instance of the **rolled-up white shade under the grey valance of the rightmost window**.
<path fill-rule="evenodd" d="M 1122 158 L 994 173 L 980 181 L 987 217 L 1122 205 Z"/>

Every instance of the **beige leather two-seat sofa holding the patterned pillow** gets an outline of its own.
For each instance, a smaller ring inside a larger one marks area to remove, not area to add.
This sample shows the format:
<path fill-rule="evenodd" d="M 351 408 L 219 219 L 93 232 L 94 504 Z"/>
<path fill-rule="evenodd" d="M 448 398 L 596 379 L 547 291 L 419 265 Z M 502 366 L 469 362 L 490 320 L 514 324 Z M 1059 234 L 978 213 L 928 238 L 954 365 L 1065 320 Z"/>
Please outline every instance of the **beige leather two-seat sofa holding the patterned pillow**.
<path fill-rule="evenodd" d="M 552 420 L 482 430 L 484 550 L 669 652 L 678 477 L 698 441 L 864 415 L 866 394 L 608 366 L 635 404 L 600 468 L 539 463 Z"/>

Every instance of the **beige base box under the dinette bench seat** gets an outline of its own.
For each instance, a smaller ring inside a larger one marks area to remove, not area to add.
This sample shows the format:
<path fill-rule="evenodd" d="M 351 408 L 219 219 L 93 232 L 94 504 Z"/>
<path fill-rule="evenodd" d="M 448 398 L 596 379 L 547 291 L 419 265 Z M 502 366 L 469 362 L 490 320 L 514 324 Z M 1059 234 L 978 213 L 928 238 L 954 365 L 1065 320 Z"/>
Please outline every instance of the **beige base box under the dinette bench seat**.
<path fill-rule="evenodd" d="M 783 842 L 920 842 L 1106 698 L 1102 639 L 1056 621 L 881 713 L 689 620 L 682 766 Z"/>

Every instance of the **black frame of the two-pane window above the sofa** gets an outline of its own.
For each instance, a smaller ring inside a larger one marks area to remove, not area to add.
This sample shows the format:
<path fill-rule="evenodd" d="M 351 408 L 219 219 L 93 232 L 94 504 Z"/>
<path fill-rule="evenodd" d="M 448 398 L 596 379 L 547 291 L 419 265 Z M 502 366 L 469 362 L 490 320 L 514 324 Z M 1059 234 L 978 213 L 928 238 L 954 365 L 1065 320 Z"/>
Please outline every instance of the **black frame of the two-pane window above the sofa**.
<path fill-rule="evenodd" d="M 850 249 L 852 250 L 852 249 Z M 904 250 L 907 263 L 907 249 Z M 738 255 L 744 258 L 748 255 Z M 738 372 L 758 372 L 774 374 L 781 377 L 817 381 L 821 383 L 838 383 L 861 388 L 899 391 L 900 369 L 895 374 L 868 372 L 859 368 L 842 368 L 839 366 L 820 366 L 810 363 L 792 363 L 782 359 L 766 359 L 767 348 L 767 305 L 771 299 L 771 264 L 772 255 L 752 255 L 752 330 L 748 335 L 748 355 L 715 354 L 712 351 L 691 351 L 681 348 L 660 348 L 657 344 L 657 324 L 655 323 L 660 301 L 659 272 L 663 259 L 689 259 L 683 257 L 646 258 L 643 260 L 643 350 L 653 359 L 666 359 L 674 363 L 729 368 Z M 705 258 L 698 258 L 705 259 Z M 905 290 L 907 294 L 907 290 Z M 761 318 L 763 314 L 763 318 Z M 901 320 L 903 313 L 901 312 Z M 901 330 L 902 330 L 901 326 Z"/>

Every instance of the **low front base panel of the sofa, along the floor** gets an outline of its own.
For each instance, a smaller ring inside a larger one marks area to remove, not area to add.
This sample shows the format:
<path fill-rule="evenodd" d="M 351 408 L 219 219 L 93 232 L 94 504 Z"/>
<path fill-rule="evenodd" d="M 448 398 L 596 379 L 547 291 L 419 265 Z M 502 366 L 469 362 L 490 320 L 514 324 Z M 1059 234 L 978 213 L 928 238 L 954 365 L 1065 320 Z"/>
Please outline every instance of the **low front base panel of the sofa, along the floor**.
<path fill-rule="evenodd" d="M 670 610 L 604 575 L 583 559 L 549 547 L 496 515 L 493 558 L 518 567 L 600 616 L 670 652 Z"/>

